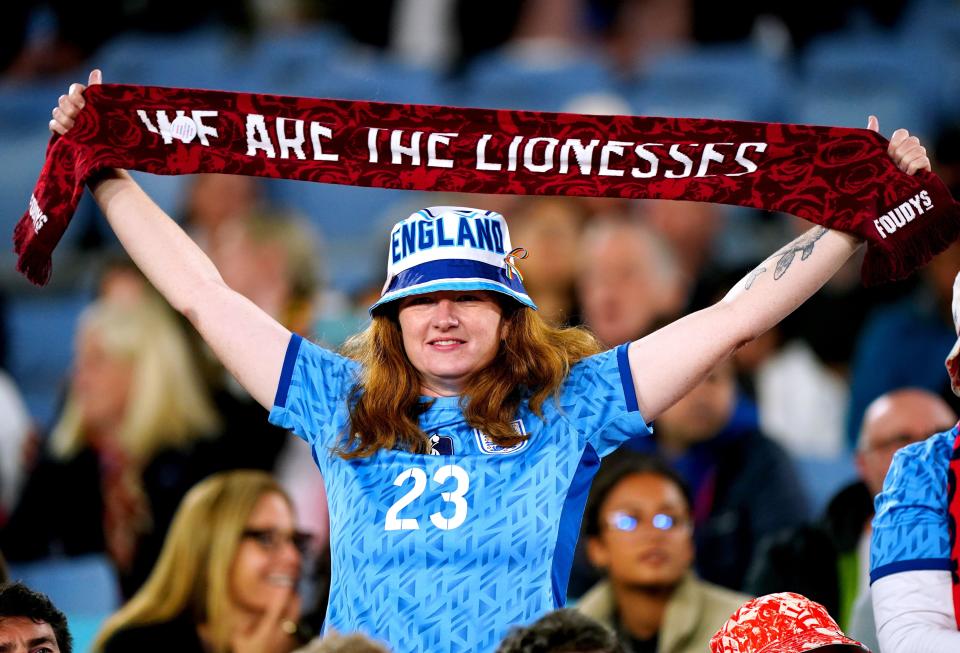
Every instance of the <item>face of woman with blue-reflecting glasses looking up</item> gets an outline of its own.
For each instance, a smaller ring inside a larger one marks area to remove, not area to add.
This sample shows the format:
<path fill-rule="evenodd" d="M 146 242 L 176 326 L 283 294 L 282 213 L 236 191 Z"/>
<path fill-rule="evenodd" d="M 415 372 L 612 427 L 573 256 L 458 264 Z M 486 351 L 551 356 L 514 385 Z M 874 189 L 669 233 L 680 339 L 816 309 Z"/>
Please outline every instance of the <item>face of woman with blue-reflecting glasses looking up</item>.
<path fill-rule="evenodd" d="M 614 584 L 676 585 L 693 564 L 693 530 L 683 493 L 659 474 L 625 476 L 600 506 L 600 533 L 588 540 L 591 562 Z"/>

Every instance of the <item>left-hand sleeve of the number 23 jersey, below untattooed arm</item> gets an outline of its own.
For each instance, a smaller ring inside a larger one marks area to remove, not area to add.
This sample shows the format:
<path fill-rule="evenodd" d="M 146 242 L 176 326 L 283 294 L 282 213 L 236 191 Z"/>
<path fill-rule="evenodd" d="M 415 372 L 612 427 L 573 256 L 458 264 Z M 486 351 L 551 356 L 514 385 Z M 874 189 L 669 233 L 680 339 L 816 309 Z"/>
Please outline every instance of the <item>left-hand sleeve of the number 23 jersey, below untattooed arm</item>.
<path fill-rule="evenodd" d="M 314 445 L 333 446 L 347 423 L 347 396 L 360 366 L 304 340 L 290 337 L 270 422 Z"/>

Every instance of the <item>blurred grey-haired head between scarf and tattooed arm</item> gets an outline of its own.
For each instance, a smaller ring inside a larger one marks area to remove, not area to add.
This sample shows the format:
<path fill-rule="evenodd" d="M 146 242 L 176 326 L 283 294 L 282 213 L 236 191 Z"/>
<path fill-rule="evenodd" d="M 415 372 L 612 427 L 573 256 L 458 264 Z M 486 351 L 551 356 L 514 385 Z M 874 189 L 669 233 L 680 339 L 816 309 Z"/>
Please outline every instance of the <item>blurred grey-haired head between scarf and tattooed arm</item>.
<path fill-rule="evenodd" d="M 624 216 L 599 216 L 582 243 L 577 295 L 584 323 L 603 344 L 641 338 L 681 313 L 679 262 L 655 231 Z"/>

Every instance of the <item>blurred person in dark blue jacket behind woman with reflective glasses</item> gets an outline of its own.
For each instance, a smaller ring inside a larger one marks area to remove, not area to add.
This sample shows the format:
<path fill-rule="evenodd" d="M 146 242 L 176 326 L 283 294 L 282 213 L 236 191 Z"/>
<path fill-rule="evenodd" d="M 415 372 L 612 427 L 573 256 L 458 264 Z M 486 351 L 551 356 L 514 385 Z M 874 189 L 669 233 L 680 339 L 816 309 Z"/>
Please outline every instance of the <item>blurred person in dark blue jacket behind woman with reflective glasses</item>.
<path fill-rule="evenodd" d="M 802 524 L 808 508 L 786 451 L 752 421 L 733 419 L 736 394 L 728 361 L 664 411 L 650 442 L 692 489 L 700 576 L 739 590 L 759 542 Z"/>

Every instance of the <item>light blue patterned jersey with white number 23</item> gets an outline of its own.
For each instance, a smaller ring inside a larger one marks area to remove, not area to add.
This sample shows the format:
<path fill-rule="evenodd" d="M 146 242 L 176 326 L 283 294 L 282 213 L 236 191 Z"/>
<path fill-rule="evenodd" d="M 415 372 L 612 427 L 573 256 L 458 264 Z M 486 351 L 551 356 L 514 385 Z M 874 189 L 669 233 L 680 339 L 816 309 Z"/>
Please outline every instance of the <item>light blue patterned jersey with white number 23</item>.
<path fill-rule="evenodd" d="M 420 418 L 437 455 L 330 452 L 358 365 L 294 335 L 270 413 L 313 447 L 330 509 L 326 625 L 397 651 L 492 651 L 513 625 L 563 605 L 602 456 L 649 429 L 626 345 L 575 365 L 543 419 L 526 403 L 500 448 L 445 397 Z"/>

